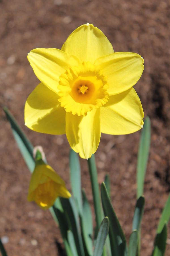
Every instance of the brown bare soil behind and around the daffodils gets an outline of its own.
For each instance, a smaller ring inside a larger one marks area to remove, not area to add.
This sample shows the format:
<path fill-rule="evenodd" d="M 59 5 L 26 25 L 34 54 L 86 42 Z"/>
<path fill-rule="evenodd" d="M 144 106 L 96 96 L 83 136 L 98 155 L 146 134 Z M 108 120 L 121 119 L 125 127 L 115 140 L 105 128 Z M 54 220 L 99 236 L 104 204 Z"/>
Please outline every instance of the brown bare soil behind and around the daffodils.
<path fill-rule="evenodd" d="M 93 23 L 108 37 L 114 51 L 139 53 L 144 73 L 135 86 L 152 125 L 146 172 L 141 255 L 151 255 L 156 228 L 170 191 L 170 2 L 160 0 L 1 0 L 0 1 L 0 236 L 7 236 L 8 255 L 63 255 L 62 239 L 50 212 L 27 202 L 30 173 L 14 142 L 4 105 L 34 145 L 42 145 L 48 163 L 69 184 L 66 136 L 39 134 L 24 126 L 24 104 L 37 86 L 27 52 L 59 48 L 81 24 Z M 111 178 L 111 200 L 129 239 L 136 193 L 140 131 L 101 136 L 96 152 L 99 183 Z M 81 160 L 82 186 L 92 192 L 86 160 Z M 170 255 L 170 225 L 167 250 Z"/>

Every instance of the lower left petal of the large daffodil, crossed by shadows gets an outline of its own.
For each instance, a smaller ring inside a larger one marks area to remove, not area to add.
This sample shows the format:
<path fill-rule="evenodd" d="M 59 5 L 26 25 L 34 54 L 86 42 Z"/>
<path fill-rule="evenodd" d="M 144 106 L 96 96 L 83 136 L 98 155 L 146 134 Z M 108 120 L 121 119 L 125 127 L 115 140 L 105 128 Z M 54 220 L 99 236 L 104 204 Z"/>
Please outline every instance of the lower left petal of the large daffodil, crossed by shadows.
<path fill-rule="evenodd" d="M 39 133 L 65 134 L 65 109 L 58 98 L 58 94 L 40 83 L 25 103 L 25 125 Z"/>

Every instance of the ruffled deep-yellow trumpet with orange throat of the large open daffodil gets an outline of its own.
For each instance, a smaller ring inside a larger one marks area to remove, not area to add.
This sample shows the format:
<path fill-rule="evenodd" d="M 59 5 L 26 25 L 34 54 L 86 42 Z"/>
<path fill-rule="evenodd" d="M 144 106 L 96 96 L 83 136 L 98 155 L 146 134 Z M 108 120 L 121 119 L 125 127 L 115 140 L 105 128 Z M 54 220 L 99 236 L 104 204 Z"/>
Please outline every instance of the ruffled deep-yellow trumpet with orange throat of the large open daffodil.
<path fill-rule="evenodd" d="M 109 99 L 106 78 L 90 62 L 83 62 L 61 74 L 58 89 L 61 107 L 73 115 L 87 115 L 88 111 L 103 106 Z"/>

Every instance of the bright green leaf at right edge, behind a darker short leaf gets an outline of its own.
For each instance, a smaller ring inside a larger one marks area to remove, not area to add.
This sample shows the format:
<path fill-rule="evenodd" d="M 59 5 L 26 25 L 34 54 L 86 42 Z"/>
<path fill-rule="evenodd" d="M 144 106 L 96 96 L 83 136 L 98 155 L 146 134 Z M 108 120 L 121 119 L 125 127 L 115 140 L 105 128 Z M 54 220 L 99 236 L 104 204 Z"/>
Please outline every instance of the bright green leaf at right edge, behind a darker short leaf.
<path fill-rule="evenodd" d="M 160 233 L 162 231 L 163 226 L 165 225 L 165 222 L 168 223 L 169 218 L 170 218 L 170 193 L 169 193 L 169 197 L 166 201 L 165 207 L 162 211 L 162 216 L 160 218 L 157 233 Z"/>

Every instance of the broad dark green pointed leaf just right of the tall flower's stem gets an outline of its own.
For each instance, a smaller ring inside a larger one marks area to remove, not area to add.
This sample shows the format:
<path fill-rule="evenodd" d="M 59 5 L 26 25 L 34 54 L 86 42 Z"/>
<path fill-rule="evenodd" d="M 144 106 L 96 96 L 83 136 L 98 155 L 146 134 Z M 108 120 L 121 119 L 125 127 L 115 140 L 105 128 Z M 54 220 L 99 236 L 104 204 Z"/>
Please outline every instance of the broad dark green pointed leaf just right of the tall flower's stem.
<path fill-rule="evenodd" d="M 122 227 L 118 221 L 116 213 L 112 207 L 109 195 L 105 183 L 101 184 L 101 201 L 103 205 L 103 210 L 105 216 L 109 217 L 110 227 L 109 227 L 109 239 L 111 244 L 111 252 L 114 256 L 125 256 L 128 255 L 128 248 L 126 243 L 126 238 Z"/>

